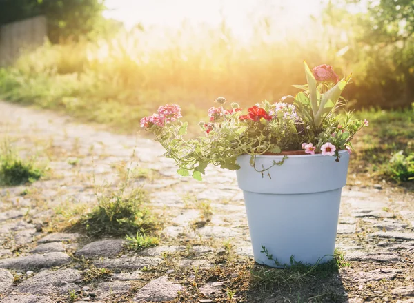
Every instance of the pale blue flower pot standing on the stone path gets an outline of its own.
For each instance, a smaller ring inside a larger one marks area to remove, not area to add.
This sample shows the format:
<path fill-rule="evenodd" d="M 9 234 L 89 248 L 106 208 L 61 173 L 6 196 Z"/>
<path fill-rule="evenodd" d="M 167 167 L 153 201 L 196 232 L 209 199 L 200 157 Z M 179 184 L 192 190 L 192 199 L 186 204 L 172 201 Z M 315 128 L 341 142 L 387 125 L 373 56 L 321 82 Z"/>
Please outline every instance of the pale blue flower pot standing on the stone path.
<path fill-rule="evenodd" d="M 262 246 L 281 264 L 290 264 L 291 256 L 308 264 L 332 259 L 349 162 L 346 150 L 339 155 L 339 162 L 321 154 L 290 155 L 263 177 L 255 168 L 269 168 L 284 156 L 257 155 L 255 168 L 250 155 L 237 158 L 237 182 L 244 193 L 256 262 L 277 267 L 261 252 Z"/>

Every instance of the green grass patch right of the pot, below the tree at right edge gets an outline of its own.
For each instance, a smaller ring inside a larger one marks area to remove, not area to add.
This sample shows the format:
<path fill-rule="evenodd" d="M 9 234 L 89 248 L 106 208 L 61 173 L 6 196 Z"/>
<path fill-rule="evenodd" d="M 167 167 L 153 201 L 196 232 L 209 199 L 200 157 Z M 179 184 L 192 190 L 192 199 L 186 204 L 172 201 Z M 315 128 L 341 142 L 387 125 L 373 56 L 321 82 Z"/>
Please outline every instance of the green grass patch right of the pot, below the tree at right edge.
<path fill-rule="evenodd" d="M 411 110 L 362 110 L 370 122 L 355 137 L 351 174 L 359 179 L 412 186 L 414 178 L 414 106 Z"/>

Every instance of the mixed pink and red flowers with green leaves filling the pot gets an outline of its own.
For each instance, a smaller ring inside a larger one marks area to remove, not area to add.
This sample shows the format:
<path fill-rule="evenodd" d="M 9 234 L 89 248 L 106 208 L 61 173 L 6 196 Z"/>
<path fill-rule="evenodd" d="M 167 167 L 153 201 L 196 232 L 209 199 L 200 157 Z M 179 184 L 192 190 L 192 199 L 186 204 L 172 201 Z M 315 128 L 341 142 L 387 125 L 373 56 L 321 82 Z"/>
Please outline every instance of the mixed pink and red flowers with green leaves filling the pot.
<path fill-rule="evenodd" d="M 304 62 L 304 67 L 308 83 L 294 86 L 303 90 L 295 97 L 285 96 L 273 104 L 263 101 L 247 113 L 237 103 L 226 109 L 226 99 L 217 98 L 217 107 L 208 110 L 209 120 L 199 123 L 204 136 L 197 139 L 184 139 L 188 123 L 179 120 L 177 104 L 161 106 L 157 114 L 142 118 L 141 127 L 154 133 L 166 149 L 164 155 L 177 162 L 179 175 L 191 174 L 199 180 L 208 164 L 239 169 L 236 159 L 243 154 L 252 155 L 252 166 L 255 155 L 286 155 L 297 150 L 334 156 L 339 161 L 339 150 L 351 153 L 351 139 L 368 126 L 368 121 L 353 119 L 351 113 L 338 113 L 345 103 L 341 93 L 351 75 L 339 79 L 328 65 L 311 70 Z M 257 171 L 263 174 L 264 170 Z"/>

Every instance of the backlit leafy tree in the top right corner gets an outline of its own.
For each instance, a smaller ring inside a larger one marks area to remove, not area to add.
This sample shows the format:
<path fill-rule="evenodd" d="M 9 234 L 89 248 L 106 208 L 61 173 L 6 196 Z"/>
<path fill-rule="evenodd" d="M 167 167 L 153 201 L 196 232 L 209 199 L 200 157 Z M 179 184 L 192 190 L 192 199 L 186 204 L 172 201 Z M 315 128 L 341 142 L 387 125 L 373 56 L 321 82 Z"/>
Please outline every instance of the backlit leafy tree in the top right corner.
<path fill-rule="evenodd" d="M 337 0 L 325 13 L 326 26 L 345 30 L 348 37 L 343 57 L 358 72 L 351 93 L 360 105 L 411 106 L 414 0 Z"/>

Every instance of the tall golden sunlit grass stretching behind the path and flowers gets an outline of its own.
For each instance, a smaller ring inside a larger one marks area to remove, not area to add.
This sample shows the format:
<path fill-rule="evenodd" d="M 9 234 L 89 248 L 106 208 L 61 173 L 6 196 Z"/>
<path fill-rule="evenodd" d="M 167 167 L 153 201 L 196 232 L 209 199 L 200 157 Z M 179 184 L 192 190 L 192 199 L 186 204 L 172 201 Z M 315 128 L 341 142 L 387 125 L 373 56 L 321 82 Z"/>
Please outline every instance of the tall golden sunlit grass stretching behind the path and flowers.
<path fill-rule="evenodd" d="M 160 104 L 176 102 L 187 119 L 198 119 L 204 116 L 199 110 L 219 95 L 242 105 L 277 101 L 295 92 L 291 84 L 304 83 L 303 59 L 312 65 L 326 61 L 326 46 L 308 39 L 275 41 L 264 27 L 257 25 L 249 41 L 223 25 L 46 44 L 1 70 L 0 95 L 130 132 Z"/>

